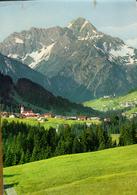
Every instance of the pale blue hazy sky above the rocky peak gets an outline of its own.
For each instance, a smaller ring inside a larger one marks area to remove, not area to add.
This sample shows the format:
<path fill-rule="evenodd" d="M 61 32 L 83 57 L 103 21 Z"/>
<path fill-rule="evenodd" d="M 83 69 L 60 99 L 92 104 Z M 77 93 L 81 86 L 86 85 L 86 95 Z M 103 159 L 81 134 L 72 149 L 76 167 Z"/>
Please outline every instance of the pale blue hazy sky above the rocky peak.
<path fill-rule="evenodd" d="M 31 27 L 67 26 L 78 17 L 98 30 L 123 39 L 137 48 L 137 3 L 135 0 L 34 0 L 0 2 L 0 41 L 13 32 Z"/>

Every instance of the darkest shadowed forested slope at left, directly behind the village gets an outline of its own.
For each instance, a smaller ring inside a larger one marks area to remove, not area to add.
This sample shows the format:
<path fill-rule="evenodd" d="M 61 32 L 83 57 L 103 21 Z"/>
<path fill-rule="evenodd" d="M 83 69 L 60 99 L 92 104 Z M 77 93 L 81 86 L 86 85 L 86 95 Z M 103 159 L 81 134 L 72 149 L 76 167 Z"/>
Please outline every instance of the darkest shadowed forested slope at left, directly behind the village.
<path fill-rule="evenodd" d="M 56 97 L 51 92 L 37 83 L 26 78 L 20 78 L 16 84 L 11 77 L 0 73 L 0 103 L 4 110 L 19 110 L 19 105 L 24 104 L 39 112 L 54 112 L 56 114 L 85 114 L 96 115 L 96 111 L 85 108 L 76 103 L 71 103 L 62 97 Z"/>

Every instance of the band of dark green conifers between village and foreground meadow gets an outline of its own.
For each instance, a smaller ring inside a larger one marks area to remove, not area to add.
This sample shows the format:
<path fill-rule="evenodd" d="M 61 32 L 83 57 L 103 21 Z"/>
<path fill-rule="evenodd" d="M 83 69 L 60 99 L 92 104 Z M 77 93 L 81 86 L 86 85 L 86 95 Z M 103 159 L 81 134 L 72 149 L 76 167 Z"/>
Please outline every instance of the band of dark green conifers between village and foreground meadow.
<path fill-rule="evenodd" d="M 100 125 L 59 125 L 49 129 L 41 124 L 32 126 L 5 119 L 2 123 L 4 166 L 115 147 L 117 143 L 111 138 L 115 131 L 120 133 L 118 146 L 135 144 L 136 127 L 135 120 L 120 123 L 116 118 L 111 123 L 102 122 Z"/>

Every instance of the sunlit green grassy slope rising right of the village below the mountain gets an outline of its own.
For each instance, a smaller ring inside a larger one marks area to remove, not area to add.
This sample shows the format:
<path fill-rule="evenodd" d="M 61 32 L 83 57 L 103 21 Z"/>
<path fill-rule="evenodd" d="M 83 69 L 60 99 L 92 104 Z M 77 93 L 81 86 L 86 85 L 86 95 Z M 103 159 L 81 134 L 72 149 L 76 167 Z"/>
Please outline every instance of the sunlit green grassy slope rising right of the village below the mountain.
<path fill-rule="evenodd" d="M 108 111 L 108 110 L 124 109 L 121 106 L 121 104 L 125 102 L 137 103 L 137 91 L 116 98 L 107 98 L 107 99 L 99 98 L 97 100 L 85 102 L 84 105 L 88 107 L 92 107 L 96 110 Z M 137 108 L 134 108 L 134 111 L 137 111 Z"/>

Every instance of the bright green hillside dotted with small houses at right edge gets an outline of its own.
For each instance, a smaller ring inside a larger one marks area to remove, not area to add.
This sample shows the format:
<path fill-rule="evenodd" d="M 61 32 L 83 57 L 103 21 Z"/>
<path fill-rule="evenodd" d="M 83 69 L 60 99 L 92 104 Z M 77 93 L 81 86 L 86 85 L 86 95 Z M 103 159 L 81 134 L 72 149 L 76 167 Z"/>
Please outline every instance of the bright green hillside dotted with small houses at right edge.
<path fill-rule="evenodd" d="M 137 91 L 132 91 L 124 96 L 99 98 L 83 103 L 95 110 L 110 111 L 123 110 L 126 114 L 137 112 Z"/>

